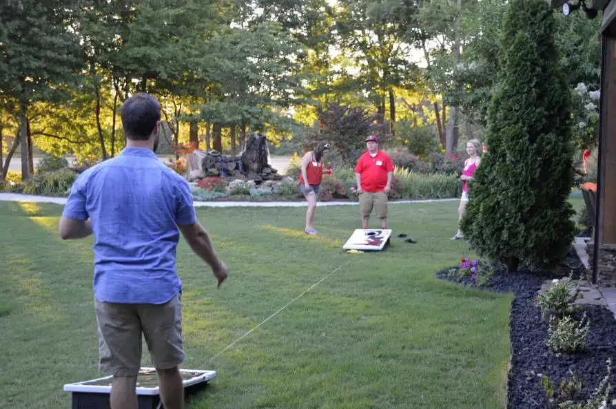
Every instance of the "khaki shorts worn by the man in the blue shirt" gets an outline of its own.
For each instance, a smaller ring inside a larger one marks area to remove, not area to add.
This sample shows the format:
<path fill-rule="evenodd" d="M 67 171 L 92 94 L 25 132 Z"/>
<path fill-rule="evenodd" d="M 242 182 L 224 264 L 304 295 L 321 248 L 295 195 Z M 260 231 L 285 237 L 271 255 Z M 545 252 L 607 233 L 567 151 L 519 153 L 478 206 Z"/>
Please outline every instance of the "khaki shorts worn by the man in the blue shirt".
<path fill-rule="evenodd" d="M 105 375 L 138 374 L 142 331 L 154 368 L 174 368 L 184 361 L 181 295 L 166 304 L 115 304 L 94 297 L 94 306 L 99 324 L 99 369 Z"/>

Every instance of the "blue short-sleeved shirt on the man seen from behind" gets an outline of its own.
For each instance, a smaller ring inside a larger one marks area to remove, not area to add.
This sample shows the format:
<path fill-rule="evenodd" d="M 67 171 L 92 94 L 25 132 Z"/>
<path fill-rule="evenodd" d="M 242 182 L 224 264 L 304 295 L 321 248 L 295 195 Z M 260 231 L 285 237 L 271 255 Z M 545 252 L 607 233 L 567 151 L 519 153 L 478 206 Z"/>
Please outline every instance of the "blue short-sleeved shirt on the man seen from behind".
<path fill-rule="evenodd" d="M 92 220 L 98 300 L 162 304 L 181 291 L 177 224 L 196 222 L 192 194 L 150 149 L 123 149 L 84 171 L 63 216 Z"/>

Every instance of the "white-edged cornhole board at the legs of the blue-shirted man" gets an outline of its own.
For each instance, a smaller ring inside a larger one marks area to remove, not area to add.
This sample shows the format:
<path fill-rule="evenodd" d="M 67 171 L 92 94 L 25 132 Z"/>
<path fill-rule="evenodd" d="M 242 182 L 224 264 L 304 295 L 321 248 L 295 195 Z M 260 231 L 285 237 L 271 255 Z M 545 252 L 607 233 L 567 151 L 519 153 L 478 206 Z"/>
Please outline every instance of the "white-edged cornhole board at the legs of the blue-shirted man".
<path fill-rule="evenodd" d="M 203 387 L 216 377 L 214 370 L 181 369 L 184 395 Z M 109 396 L 112 377 L 66 384 L 65 392 L 72 394 L 72 409 L 110 409 Z M 138 409 L 160 409 L 163 407 L 158 390 L 158 378 L 154 368 L 141 368 L 137 375 Z M 159 406 L 160 404 L 160 406 Z"/>

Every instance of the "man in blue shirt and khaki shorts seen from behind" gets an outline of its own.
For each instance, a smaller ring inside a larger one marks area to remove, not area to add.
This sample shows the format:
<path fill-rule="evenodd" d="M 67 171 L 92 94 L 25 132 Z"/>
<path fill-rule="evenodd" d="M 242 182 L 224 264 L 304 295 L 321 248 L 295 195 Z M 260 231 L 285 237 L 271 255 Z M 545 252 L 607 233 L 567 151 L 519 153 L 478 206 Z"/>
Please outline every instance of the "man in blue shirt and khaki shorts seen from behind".
<path fill-rule="evenodd" d="M 218 286 L 229 268 L 196 220 L 187 181 L 156 157 L 161 105 L 136 94 L 120 114 L 125 149 L 74 182 L 59 233 L 64 240 L 94 235 L 99 368 L 113 376 L 111 408 L 137 409 L 142 332 L 165 409 L 183 408 L 182 282 L 175 266 L 180 231 Z"/>

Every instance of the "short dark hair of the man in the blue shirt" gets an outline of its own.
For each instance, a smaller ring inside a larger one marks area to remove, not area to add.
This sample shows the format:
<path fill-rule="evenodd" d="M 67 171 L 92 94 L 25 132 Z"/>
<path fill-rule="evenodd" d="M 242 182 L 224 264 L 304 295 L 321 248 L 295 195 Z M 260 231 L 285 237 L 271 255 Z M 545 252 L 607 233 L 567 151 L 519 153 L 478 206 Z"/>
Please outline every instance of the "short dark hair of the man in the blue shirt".
<path fill-rule="evenodd" d="M 120 116 L 127 139 L 147 140 L 161 120 L 161 104 L 150 94 L 134 94 L 124 101 Z"/>

